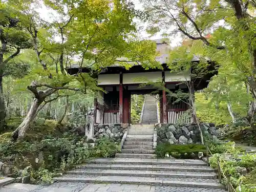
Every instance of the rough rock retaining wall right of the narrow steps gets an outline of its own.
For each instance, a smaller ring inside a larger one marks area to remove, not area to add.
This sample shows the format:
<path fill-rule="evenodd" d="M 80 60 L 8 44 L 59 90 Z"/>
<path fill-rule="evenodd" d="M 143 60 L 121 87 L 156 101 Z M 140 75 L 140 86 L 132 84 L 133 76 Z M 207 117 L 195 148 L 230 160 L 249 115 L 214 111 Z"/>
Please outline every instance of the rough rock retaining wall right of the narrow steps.
<path fill-rule="evenodd" d="M 200 129 L 196 123 L 191 124 L 156 124 L 157 142 L 170 144 L 201 143 Z M 218 141 L 218 130 L 214 123 L 200 123 L 204 138 Z"/>

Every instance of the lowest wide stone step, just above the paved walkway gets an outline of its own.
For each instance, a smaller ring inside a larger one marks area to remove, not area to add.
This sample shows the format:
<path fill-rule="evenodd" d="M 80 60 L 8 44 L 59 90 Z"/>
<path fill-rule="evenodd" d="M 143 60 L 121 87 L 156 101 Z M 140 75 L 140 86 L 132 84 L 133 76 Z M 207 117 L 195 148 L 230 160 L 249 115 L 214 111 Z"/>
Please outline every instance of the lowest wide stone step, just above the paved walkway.
<path fill-rule="evenodd" d="M 125 184 L 145 184 L 145 185 L 169 185 L 177 187 L 201 187 L 201 188 L 224 188 L 214 179 L 193 179 L 189 178 L 152 178 L 152 177 L 126 177 L 126 176 L 95 176 L 87 175 L 77 177 L 77 175 L 65 175 L 54 178 L 58 182 L 81 182 L 81 183 L 125 183 Z"/>

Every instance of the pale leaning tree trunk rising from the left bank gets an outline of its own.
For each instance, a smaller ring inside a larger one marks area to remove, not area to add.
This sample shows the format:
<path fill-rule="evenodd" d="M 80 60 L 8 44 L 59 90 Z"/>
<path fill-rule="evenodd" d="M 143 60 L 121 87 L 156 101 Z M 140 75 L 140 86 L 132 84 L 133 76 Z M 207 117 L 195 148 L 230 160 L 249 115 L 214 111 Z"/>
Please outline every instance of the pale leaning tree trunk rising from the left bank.
<path fill-rule="evenodd" d="M 42 103 L 42 101 L 39 101 L 38 99 L 34 98 L 30 107 L 30 110 L 23 120 L 23 122 L 17 127 L 17 129 L 12 133 L 12 138 L 14 141 L 17 139 L 22 140 L 25 136 L 26 131 L 29 129 L 31 122 L 33 122 L 37 109 L 39 108 L 39 105 Z"/>

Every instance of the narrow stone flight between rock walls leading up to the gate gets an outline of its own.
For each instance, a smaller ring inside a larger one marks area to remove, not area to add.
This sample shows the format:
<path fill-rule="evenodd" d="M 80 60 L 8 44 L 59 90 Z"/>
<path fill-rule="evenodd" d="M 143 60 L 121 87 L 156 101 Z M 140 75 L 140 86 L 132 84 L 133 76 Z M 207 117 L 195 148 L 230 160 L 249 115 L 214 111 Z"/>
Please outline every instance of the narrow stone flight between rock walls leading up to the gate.
<path fill-rule="evenodd" d="M 154 125 L 131 125 L 120 154 L 122 158 L 155 158 L 153 150 Z"/>

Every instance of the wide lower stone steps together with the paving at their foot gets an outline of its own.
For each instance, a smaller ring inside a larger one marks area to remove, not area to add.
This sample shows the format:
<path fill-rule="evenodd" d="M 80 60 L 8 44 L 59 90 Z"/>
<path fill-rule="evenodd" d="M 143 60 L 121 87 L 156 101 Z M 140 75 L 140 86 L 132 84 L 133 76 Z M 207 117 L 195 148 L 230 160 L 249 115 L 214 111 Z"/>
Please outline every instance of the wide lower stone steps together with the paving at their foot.
<path fill-rule="evenodd" d="M 224 192 L 201 160 L 97 158 L 54 178 L 50 186 L 9 184 L 0 192 Z"/>

